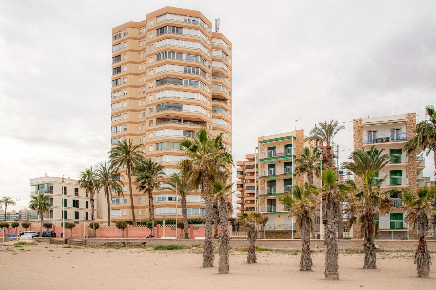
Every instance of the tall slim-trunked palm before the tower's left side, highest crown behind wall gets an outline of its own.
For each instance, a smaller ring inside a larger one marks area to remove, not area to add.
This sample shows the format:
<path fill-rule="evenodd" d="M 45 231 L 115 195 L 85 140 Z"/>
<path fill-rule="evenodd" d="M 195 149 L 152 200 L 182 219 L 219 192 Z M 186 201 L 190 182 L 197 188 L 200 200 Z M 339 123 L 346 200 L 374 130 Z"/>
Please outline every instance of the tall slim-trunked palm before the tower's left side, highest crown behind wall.
<path fill-rule="evenodd" d="M 139 147 L 143 146 L 143 143 L 132 145 L 132 140 L 129 139 L 129 143 L 126 140 L 116 143 L 115 146 L 108 152 L 110 163 L 115 164 L 117 169 L 126 166 L 127 178 L 129 179 L 129 194 L 130 194 L 130 207 L 132 209 L 133 224 L 136 224 L 135 218 L 135 206 L 133 205 L 132 194 L 132 178 L 130 172 L 133 170 L 137 163 L 143 160 L 143 153 L 139 150 Z"/>

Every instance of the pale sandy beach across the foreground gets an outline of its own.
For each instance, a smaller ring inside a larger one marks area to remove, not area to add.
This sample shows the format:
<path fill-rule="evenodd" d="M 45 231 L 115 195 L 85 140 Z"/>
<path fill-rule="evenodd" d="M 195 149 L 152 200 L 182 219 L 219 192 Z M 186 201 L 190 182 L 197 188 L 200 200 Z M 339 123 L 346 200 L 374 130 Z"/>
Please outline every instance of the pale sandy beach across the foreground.
<path fill-rule="evenodd" d="M 69 247 L 48 243 L 2 246 L 0 289 L 434 289 L 435 272 L 417 278 L 412 253 L 378 253 L 378 270 L 361 270 L 361 253 L 339 254 L 338 281 L 324 280 L 324 253 L 313 253 L 313 272 L 299 270 L 296 252 L 230 252 L 230 273 L 201 269 L 202 249 Z M 432 254 L 434 256 L 434 254 Z M 218 266 L 218 254 L 215 255 Z M 433 268 L 434 269 L 434 268 Z M 37 285 L 38 282 L 42 283 Z M 360 285 L 363 285 L 361 287 Z M 418 286 L 419 285 L 419 286 Z"/>

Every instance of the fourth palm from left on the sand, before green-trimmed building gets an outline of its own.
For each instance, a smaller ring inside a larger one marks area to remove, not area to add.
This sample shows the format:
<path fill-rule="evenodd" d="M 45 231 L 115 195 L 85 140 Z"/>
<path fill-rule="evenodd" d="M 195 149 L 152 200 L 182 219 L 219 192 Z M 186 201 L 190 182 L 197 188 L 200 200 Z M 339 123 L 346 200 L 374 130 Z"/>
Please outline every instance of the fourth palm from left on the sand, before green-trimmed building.
<path fill-rule="evenodd" d="M 319 200 L 313 191 L 305 190 L 302 185 L 295 184 L 292 196 L 283 194 L 280 203 L 284 211 L 289 211 L 289 217 L 295 217 L 296 225 L 301 231 L 300 271 L 312 271 L 312 251 L 310 250 L 310 233 L 313 232 L 314 220 L 317 217 L 315 208 Z"/>

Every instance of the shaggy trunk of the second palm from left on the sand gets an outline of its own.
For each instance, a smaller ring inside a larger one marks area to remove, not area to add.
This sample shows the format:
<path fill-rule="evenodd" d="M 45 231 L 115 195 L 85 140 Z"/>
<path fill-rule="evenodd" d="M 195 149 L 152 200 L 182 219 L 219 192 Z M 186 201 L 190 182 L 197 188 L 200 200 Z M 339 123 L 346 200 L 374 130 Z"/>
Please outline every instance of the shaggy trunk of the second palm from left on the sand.
<path fill-rule="evenodd" d="M 219 215 L 221 219 L 221 238 L 218 246 L 218 274 L 228 274 L 228 247 L 230 238 L 228 237 L 228 216 L 227 216 L 227 201 L 221 197 L 219 202 Z"/>

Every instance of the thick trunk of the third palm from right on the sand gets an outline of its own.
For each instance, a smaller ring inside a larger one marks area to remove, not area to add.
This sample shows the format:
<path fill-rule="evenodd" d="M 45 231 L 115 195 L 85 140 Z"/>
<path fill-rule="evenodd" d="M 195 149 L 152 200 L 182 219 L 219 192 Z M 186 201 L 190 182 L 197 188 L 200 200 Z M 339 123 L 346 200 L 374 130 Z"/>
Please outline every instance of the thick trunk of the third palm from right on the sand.
<path fill-rule="evenodd" d="M 327 280 L 338 280 L 339 279 L 339 265 L 337 263 L 337 239 L 336 239 L 336 228 L 334 222 L 337 219 L 337 214 L 334 210 L 335 205 L 334 200 L 327 199 L 327 227 L 325 233 L 324 245 L 326 245 L 326 257 L 325 257 L 325 269 L 324 275 Z"/>

